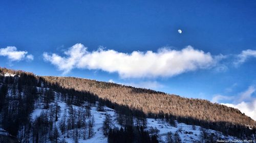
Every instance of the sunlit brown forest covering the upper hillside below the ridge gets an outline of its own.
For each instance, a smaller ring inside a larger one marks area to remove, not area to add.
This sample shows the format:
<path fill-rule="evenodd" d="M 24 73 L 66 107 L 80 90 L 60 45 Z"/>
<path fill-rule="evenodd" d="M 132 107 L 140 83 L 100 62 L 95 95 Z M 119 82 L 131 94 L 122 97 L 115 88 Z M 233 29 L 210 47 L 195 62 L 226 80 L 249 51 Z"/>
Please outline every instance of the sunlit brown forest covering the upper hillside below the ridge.
<path fill-rule="evenodd" d="M 227 122 L 251 127 L 256 126 L 254 120 L 241 113 L 238 109 L 211 103 L 207 100 L 183 98 L 153 90 L 90 79 L 53 76 L 44 76 L 43 78 L 52 84 L 60 85 L 62 88 L 90 91 L 98 97 L 110 100 L 113 103 L 127 105 L 132 109 L 141 109 L 148 116 L 167 113 L 177 118 L 192 118 L 195 121 Z M 187 122 L 190 121 L 188 120 Z"/>

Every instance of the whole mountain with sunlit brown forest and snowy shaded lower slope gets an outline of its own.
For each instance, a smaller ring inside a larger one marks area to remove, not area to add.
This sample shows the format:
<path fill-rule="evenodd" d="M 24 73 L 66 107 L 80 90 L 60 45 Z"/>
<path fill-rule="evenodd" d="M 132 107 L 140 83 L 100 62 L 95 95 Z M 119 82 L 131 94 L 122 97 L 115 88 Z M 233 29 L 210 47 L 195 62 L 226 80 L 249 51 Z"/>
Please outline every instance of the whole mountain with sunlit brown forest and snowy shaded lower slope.
<path fill-rule="evenodd" d="M 256 134 L 251 118 L 207 100 L 5 68 L 0 68 L 0 115 L 5 141 L 115 142 L 119 136 L 126 142 L 166 142 L 169 136 L 176 142 L 214 142 Z"/>

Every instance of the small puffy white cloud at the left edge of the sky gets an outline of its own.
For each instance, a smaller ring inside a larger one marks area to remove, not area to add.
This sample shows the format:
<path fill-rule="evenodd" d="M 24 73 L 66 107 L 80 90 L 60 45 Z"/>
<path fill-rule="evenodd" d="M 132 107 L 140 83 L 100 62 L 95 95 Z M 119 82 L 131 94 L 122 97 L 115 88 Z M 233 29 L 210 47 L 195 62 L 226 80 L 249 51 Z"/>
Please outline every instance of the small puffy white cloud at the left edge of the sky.
<path fill-rule="evenodd" d="M 12 61 L 20 61 L 24 59 L 33 60 L 33 55 L 29 54 L 26 56 L 27 51 L 18 51 L 14 46 L 7 46 L 6 48 L 0 48 L 0 55 L 7 56 Z"/>

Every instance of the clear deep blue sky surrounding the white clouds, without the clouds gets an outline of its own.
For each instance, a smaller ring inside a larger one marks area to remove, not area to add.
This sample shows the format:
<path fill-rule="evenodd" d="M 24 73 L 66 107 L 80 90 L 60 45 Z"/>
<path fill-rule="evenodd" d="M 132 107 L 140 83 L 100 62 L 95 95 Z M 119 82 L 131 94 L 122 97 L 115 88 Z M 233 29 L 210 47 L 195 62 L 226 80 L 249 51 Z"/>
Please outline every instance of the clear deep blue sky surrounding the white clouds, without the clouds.
<path fill-rule="evenodd" d="M 217 94 L 240 96 L 256 84 L 256 60 L 249 58 L 239 67 L 232 60 L 243 50 L 256 50 L 255 7 L 255 1 L 0 1 L 0 48 L 15 46 L 34 55 L 30 62 L 0 56 L 0 66 L 61 76 L 62 71 L 44 61 L 42 53 L 63 55 L 76 43 L 89 51 L 103 46 L 123 53 L 191 45 L 211 55 L 228 55 L 222 61 L 226 70 L 123 79 L 117 73 L 75 68 L 65 76 L 142 87 L 150 81 L 160 84 L 155 90 L 208 100 Z"/>

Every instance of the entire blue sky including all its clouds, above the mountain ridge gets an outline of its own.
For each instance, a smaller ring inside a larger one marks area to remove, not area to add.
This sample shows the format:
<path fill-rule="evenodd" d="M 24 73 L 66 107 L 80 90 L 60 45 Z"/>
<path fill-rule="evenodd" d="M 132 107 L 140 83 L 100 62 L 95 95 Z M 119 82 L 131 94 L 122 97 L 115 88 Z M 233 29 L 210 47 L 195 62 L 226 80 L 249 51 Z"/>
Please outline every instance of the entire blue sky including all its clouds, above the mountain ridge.
<path fill-rule="evenodd" d="M 255 6 L 1 1 L 0 66 L 203 98 L 256 119 Z"/>

